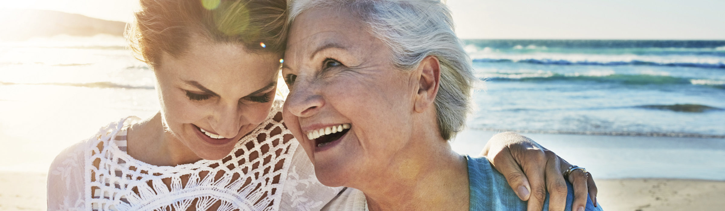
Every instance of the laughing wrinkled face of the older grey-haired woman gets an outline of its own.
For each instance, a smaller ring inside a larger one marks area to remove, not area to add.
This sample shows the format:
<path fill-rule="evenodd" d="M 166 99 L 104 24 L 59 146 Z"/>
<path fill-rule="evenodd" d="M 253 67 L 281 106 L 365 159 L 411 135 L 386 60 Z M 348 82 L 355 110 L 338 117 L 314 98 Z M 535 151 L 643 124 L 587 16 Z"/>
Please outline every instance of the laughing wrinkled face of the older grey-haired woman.
<path fill-rule="evenodd" d="M 370 179 L 405 156 L 397 152 L 411 144 L 417 80 L 394 67 L 381 40 L 349 13 L 313 9 L 295 19 L 288 42 L 284 120 L 323 184 Z"/>

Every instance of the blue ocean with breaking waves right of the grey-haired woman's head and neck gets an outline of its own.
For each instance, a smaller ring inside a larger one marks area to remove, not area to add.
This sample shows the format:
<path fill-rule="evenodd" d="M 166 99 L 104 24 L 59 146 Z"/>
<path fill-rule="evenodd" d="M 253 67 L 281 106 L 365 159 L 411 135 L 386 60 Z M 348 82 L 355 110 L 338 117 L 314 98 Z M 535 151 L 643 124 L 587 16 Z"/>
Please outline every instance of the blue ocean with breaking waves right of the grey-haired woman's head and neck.
<path fill-rule="evenodd" d="M 472 129 L 725 137 L 725 40 L 465 40 Z"/>

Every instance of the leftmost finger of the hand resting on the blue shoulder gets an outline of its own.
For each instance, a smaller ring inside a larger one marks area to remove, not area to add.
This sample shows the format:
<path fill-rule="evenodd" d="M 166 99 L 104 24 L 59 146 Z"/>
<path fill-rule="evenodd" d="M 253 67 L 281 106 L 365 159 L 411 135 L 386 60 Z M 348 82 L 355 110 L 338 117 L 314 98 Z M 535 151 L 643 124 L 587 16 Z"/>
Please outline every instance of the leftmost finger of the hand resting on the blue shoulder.
<path fill-rule="evenodd" d="M 508 185 L 515 191 L 516 195 L 522 201 L 529 200 L 529 193 L 531 192 L 531 186 L 529 186 L 529 180 L 526 179 L 526 175 L 523 174 L 523 170 L 513 159 L 508 149 L 501 150 L 494 158 L 489 158 L 494 168 L 502 173 Z"/>

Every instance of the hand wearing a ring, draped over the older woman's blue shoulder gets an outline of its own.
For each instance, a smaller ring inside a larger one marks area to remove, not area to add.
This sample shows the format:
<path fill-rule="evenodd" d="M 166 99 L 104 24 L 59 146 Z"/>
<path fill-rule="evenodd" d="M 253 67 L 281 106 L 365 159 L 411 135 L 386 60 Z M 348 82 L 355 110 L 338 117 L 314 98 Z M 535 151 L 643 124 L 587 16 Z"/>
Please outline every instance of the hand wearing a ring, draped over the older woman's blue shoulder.
<path fill-rule="evenodd" d="M 521 134 L 504 132 L 489 139 L 481 155 L 486 156 L 494 168 L 506 177 L 521 200 L 529 201 L 528 210 L 542 210 L 547 190 L 550 194 L 549 210 L 564 210 L 566 207 L 567 188 L 562 173 L 571 164 L 554 152 Z M 572 207 L 586 208 L 587 193 L 592 204 L 597 204 L 597 185 L 591 174 L 572 171 L 566 179 L 574 187 Z"/>

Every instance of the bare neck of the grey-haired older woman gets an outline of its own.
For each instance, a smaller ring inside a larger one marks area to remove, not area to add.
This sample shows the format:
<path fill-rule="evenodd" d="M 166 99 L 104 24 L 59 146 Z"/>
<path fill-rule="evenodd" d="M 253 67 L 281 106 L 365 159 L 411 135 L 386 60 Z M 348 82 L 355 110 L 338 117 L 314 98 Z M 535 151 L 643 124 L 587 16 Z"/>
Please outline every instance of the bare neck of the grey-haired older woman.
<path fill-rule="evenodd" d="M 358 188 L 370 210 L 468 210 L 465 157 L 429 131 L 414 132 L 405 152 Z"/>

